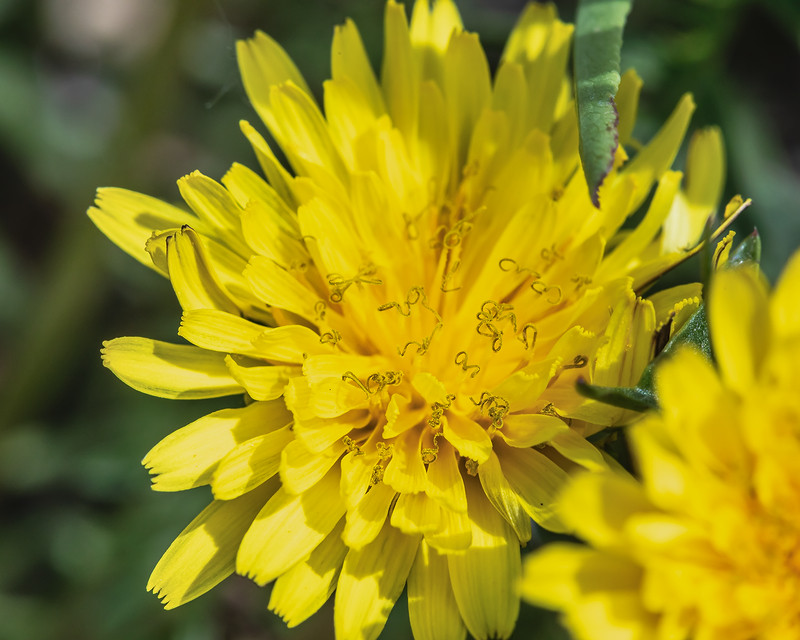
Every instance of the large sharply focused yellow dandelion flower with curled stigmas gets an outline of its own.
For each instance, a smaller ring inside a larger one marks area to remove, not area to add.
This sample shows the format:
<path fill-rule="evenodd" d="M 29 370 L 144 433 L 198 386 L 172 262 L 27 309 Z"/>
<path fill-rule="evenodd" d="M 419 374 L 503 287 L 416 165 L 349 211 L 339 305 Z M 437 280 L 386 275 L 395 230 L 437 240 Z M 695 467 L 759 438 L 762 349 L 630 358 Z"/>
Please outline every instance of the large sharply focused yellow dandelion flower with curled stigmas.
<path fill-rule="evenodd" d="M 715 130 L 690 150 L 702 181 L 669 170 L 687 96 L 634 158 L 620 147 L 595 209 L 572 30 L 530 5 L 492 78 L 451 1 L 419 0 L 409 23 L 390 0 L 380 80 L 355 25 L 335 30 L 324 114 L 258 33 L 239 64 L 290 168 L 242 122 L 266 180 L 193 173 L 191 211 L 98 192 L 89 215 L 169 277 L 188 342 L 111 340 L 106 366 L 152 395 L 246 399 L 145 457 L 155 489 L 214 497 L 153 572 L 167 607 L 236 571 L 275 581 L 290 626 L 335 590 L 343 639 L 375 638 L 406 584 L 417 638 L 511 633 L 530 518 L 563 528 L 567 471 L 607 465 L 584 436 L 625 419 L 575 380 L 635 382 L 675 304 L 698 304 L 697 286 L 634 292 L 698 241 L 722 180 Z M 639 86 L 625 75 L 623 144 Z"/>

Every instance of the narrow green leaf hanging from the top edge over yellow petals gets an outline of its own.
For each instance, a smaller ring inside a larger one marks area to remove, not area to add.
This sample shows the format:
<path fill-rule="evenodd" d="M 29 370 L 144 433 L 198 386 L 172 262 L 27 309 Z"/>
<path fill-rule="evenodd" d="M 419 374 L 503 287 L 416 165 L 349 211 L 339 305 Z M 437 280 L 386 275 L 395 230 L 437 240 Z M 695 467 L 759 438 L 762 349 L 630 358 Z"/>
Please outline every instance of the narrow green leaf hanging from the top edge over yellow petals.
<path fill-rule="evenodd" d="M 580 155 L 595 207 L 600 206 L 598 190 L 611 171 L 619 143 L 614 96 L 620 80 L 622 30 L 630 7 L 630 0 L 580 0 L 575 21 Z"/>

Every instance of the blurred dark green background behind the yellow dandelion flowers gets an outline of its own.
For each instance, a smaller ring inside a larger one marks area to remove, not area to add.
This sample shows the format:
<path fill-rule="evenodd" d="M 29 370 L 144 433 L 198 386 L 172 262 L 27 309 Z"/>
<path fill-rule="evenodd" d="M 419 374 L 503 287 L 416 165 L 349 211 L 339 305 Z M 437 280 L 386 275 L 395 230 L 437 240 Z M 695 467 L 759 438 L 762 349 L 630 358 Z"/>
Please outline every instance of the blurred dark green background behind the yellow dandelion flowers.
<path fill-rule="evenodd" d="M 557 4 L 572 19 L 575 3 Z M 493 62 L 522 6 L 460 3 Z M 179 308 L 84 212 L 98 186 L 174 201 L 194 169 L 256 165 L 237 124 L 257 120 L 238 38 L 268 31 L 319 88 L 333 25 L 353 17 L 377 62 L 382 13 L 381 0 L 0 0 L 0 640 L 332 637 L 329 606 L 289 631 L 239 578 L 172 612 L 144 591 L 208 494 L 153 493 L 139 461 L 224 401 L 146 397 L 103 369 L 103 339 L 170 340 Z M 649 0 L 623 51 L 645 81 L 642 138 L 684 91 L 693 126 L 722 127 L 726 198 L 753 198 L 738 229 L 758 226 L 773 279 L 800 245 L 799 44 L 796 0 Z M 409 636 L 398 603 L 383 637 Z M 514 637 L 565 636 L 523 607 Z"/>

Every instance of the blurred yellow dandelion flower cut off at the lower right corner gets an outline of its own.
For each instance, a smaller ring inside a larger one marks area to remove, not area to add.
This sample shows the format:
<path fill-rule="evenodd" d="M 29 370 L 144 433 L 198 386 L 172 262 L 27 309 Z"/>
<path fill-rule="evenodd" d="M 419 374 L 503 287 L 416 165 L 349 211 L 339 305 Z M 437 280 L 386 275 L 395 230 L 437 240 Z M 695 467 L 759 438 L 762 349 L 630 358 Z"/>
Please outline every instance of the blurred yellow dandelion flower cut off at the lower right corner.
<path fill-rule="evenodd" d="M 656 374 L 660 414 L 632 428 L 642 484 L 578 477 L 565 520 L 590 547 L 526 565 L 523 593 L 582 640 L 800 637 L 800 252 L 771 297 L 719 272 L 718 369 L 691 348 Z"/>

